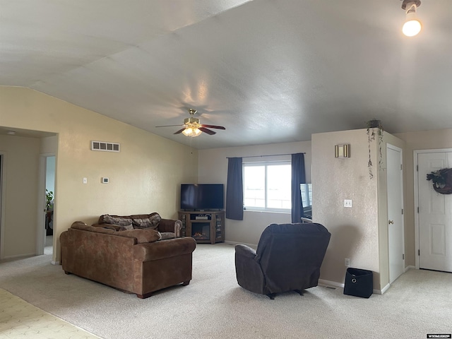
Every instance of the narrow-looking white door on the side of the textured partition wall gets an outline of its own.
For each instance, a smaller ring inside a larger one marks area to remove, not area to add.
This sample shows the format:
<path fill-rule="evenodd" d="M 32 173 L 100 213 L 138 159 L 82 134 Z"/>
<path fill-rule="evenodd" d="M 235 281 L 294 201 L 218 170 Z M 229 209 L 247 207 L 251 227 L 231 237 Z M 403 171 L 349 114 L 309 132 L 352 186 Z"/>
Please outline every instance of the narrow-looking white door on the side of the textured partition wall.
<path fill-rule="evenodd" d="M 389 283 L 393 283 L 405 272 L 402 159 L 402 150 L 388 144 L 386 148 L 386 164 L 388 167 Z"/>

